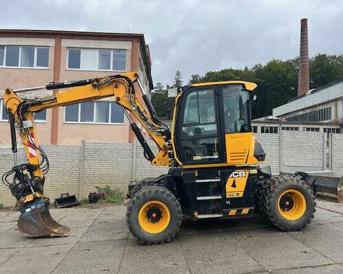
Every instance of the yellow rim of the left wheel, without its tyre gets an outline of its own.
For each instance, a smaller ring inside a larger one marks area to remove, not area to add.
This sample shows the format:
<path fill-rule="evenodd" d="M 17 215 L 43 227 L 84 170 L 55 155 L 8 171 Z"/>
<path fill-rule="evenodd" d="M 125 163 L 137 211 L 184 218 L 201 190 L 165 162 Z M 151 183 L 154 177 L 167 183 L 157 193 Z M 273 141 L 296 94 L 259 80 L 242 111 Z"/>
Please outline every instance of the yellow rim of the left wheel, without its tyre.
<path fill-rule="evenodd" d="M 148 201 L 139 210 L 138 221 L 141 228 L 148 233 L 163 232 L 170 223 L 170 212 L 161 201 Z"/>

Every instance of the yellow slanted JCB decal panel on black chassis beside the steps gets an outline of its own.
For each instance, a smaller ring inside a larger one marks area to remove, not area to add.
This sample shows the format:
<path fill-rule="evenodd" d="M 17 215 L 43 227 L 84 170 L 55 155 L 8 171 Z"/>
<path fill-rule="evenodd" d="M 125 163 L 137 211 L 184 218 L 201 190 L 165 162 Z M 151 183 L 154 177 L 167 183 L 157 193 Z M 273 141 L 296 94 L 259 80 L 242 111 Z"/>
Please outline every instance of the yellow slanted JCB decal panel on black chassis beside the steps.
<path fill-rule="evenodd" d="M 233 171 L 226 181 L 226 197 L 243 197 L 249 171 Z"/>

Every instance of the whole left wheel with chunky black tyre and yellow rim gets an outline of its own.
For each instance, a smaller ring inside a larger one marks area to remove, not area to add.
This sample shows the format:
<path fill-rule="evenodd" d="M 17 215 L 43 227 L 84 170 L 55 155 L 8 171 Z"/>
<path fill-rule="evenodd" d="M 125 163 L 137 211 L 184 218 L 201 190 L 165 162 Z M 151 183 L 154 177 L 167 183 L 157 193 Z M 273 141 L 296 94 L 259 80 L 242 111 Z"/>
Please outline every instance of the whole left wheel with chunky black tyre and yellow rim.
<path fill-rule="evenodd" d="M 169 242 L 180 229 L 181 221 L 180 203 L 164 186 L 143 186 L 126 210 L 130 232 L 147 245 Z"/>

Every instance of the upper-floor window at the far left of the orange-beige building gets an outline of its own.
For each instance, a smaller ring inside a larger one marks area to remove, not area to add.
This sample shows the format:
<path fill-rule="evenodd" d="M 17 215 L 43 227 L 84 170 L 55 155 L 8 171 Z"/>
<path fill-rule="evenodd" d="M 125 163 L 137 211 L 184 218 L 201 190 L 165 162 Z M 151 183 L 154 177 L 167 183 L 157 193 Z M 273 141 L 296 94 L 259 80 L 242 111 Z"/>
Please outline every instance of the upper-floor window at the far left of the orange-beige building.
<path fill-rule="evenodd" d="M 0 66 L 47 69 L 49 68 L 49 48 L 0 46 Z"/>

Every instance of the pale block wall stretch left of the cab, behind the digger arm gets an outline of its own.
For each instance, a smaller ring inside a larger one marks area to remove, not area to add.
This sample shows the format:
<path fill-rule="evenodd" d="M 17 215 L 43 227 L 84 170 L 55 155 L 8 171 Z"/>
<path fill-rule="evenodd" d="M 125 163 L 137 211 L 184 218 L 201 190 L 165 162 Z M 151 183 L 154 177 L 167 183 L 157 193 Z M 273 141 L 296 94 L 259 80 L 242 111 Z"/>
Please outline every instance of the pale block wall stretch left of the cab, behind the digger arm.
<path fill-rule="evenodd" d="M 149 140 L 152 147 L 156 147 Z M 43 145 L 50 170 L 45 180 L 45 195 L 53 201 L 62 192 L 77 195 L 80 199 L 95 191 L 95 186 L 111 186 L 123 192 L 128 183 L 145 177 L 157 177 L 167 173 L 167 167 L 154 167 L 145 160 L 143 149 L 137 143 L 110 144 L 82 142 L 79 146 Z M 154 149 L 156 151 L 156 149 Z M 19 163 L 26 162 L 23 148 L 19 148 Z M 13 166 L 10 146 L 0 147 L 0 175 Z M 15 203 L 10 190 L 0 184 L 0 203 Z"/>

